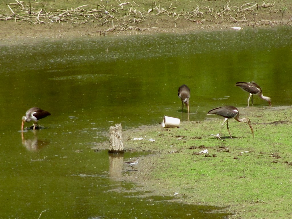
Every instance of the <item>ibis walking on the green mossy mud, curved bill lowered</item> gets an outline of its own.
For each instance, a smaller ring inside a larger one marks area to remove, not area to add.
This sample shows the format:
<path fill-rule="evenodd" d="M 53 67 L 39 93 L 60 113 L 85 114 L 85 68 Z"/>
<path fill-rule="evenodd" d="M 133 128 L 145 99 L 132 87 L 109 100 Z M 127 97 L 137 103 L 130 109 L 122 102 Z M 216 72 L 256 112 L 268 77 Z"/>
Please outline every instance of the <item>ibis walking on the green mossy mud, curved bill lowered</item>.
<path fill-rule="evenodd" d="M 228 119 L 231 119 L 231 118 L 234 118 L 236 121 L 245 122 L 246 124 L 248 124 L 248 126 L 251 128 L 251 133 L 253 134 L 253 138 L 254 138 L 253 127 L 251 127 L 250 119 L 248 119 L 248 118 L 240 119 L 239 112 L 238 112 L 238 109 L 236 107 L 233 107 L 233 106 L 218 107 L 215 109 L 211 109 L 207 113 L 207 115 L 211 115 L 211 114 L 217 114 L 219 116 L 225 117 L 224 122 L 222 123 L 221 128 L 220 128 L 219 138 L 220 138 L 222 126 L 224 125 L 225 121 L 227 123 L 227 130 L 229 132 L 230 138 L 232 138 L 230 131 L 229 131 L 229 127 L 228 127 Z"/>

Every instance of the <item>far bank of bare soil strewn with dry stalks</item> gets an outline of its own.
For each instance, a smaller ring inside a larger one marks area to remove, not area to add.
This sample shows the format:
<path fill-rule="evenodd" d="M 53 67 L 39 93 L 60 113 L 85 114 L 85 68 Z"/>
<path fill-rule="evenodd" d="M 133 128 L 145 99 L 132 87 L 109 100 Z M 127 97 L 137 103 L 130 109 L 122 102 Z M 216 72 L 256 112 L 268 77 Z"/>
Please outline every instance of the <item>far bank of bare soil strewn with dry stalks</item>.
<path fill-rule="evenodd" d="M 212 31 L 291 25 L 292 2 L 236 1 L 13 1 L 0 5 L 0 39 L 44 39 Z"/>

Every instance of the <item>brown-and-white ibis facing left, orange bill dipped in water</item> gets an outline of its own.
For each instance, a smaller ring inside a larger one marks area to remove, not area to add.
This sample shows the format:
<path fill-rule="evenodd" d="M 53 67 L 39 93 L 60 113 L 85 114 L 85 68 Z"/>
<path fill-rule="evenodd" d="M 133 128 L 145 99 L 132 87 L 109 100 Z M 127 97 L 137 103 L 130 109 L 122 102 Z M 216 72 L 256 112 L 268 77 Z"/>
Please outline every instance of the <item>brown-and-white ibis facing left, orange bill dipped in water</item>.
<path fill-rule="evenodd" d="M 48 111 L 41 109 L 39 107 L 32 107 L 29 110 L 26 111 L 25 116 L 22 117 L 22 124 L 21 124 L 21 131 L 23 131 L 23 126 L 24 126 L 24 122 L 30 122 L 32 121 L 34 124 L 34 128 L 36 128 L 36 126 L 38 125 L 38 120 L 45 118 L 47 116 L 50 116 L 51 113 L 49 113 Z"/>

